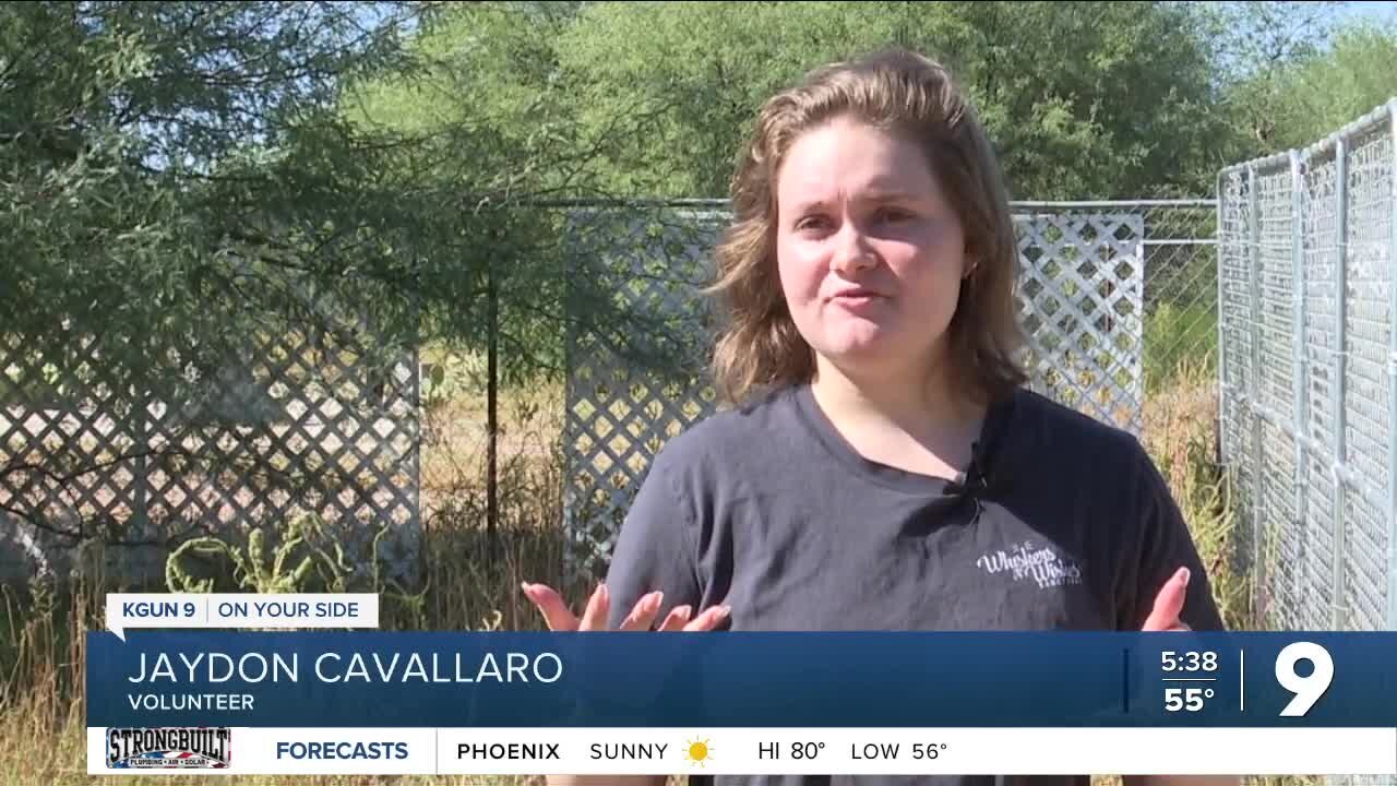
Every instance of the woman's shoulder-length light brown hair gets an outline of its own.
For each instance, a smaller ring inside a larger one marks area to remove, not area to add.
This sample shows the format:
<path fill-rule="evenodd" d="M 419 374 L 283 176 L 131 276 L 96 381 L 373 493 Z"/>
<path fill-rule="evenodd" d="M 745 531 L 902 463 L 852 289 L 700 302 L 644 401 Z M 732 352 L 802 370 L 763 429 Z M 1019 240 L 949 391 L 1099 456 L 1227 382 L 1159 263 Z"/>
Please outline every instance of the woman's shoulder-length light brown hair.
<path fill-rule="evenodd" d="M 1021 385 L 1017 239 L 993 148 L 944 67 L 887 50 L 812 71 L 770 98 L 756 119 L 732 180 L 733 221 L 718 243 L 710 288 L 728 312 L 712 358 L 719 392 L 742 401 L 759 387 L 814 375 L 814 352 L 791 319 L 777 274 L 775 179 L 799 134 L 842 115 L 916 143 L 964 227 L 972 267 L 949 327 L 963 392 L 990 400 Z"/>

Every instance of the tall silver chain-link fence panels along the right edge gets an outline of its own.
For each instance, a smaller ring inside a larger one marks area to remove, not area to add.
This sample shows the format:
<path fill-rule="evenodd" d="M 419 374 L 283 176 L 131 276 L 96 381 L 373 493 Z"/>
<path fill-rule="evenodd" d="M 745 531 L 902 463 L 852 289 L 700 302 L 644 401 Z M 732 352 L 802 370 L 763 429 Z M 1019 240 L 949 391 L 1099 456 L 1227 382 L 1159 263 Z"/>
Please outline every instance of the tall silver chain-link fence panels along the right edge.
<path fill-rule="evenodd" d="M 1397 99 L 1218 178 L 1221 450 L 1280 629 L 1397 627 Z"/>

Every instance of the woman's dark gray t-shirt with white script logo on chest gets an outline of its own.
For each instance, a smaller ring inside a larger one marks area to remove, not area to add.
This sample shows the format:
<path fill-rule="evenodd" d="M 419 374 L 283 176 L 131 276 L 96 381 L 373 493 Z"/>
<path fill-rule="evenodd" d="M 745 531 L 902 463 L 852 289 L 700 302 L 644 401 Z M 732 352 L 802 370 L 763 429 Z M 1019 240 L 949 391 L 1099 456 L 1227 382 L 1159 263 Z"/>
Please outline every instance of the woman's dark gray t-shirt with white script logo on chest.
<path fill-rule="evenodd" d="M 1221 629 L 1139 441 L 1027 389 L 990 407 L 956 480 L 863 459 L 809 386 L 669 441 L 612 554 L 612 627 L 664 590 L 733 631 L 1134 631 L 1180 566 L 1183 621 Z M 694 776 L 698 785 L 1087 786 L 1073 778 Z"/>

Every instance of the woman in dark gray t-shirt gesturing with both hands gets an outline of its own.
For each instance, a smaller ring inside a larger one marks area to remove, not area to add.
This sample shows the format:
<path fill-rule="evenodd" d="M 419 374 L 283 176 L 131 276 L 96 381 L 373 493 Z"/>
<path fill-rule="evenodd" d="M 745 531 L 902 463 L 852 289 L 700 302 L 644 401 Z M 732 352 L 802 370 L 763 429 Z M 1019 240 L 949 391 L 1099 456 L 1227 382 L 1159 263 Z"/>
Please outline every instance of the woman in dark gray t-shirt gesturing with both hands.
<path fill-rule="evenodd" d="M 1007 199 L 940 66 L 888 52 L 775 95 L 732 197 L 736 406 L 655 457 L 581 618 L 525 585 L 552 629 L 1221 628 L 1139 442 L 1024 387 Z"/>

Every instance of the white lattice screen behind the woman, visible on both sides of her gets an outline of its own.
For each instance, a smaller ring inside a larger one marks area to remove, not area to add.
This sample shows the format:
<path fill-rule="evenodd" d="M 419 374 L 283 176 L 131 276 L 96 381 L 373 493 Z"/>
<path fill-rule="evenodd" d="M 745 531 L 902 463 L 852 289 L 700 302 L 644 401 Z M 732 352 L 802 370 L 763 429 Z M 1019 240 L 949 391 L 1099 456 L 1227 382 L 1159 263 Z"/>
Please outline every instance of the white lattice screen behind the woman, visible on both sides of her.
<path fill-rule="evenodd" d="M 645 330 L 619 340 L 588 324 L 569 334 L 564 526 L 569 569 L 598 575 L 651 457 L 718 410 L 703 366 L 712 334 L 710 252 L 726 214 L 676 211 L 668 220 L 616 220 L 610 234 L 585 227 L 574 270 L 610 276 L 615 302 L 657 324 L 671 341 L 637 361 Z M 647 222 L 648 221 L 648 222 Z M 1144 401 L 1144 217 L 1137 213 L 1020 213 L 1020 309 L 1030 337 L 1031 386 L 1098 420 L 1139 432 Z M 601 264 L 598 263 L 601 260 Z M 668 358 L 668 361 L 665 359 Z"/>

